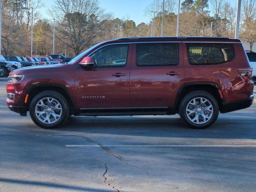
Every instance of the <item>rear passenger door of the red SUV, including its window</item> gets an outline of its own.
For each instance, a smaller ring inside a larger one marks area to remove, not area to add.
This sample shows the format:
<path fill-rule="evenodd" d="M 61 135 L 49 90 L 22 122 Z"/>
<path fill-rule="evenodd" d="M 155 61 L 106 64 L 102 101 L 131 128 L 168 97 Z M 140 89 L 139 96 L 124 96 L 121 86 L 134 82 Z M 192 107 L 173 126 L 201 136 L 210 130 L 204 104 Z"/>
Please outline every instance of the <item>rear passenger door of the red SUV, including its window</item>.
<path fill-rule="evenodd" d="M 159 44 L 159 43 L 156 43 Z M 166 43 L 165 43 L 166 44 Z M 146 57 L 146 54 L 136 55 L 136 49 L 140 44 L 134 44 L 133 57 L 130 71 L 130 102 L 131 107 L 172 107 L 178 89 L 184 82 L 184 68 L 183 68 L 183 54 L 181 43 L 178 44 L 178 61 L 176 65 L 169 65 L 174 63 L 176 58 L 170 55 L 169 63 L 161 55 L 165 51 L 160 51 L 161 48 L 153 46 L 149 48 L 148 52 L 152 53 L 152 57 L 145 59 L 145 63 L 138 62 L 136 59 Z M 172 44 L 170 45 L 171 52 Z M 162 48 L 163 49 L 163 48 Z M 144 50 L 146 50 L 144 48 Z M 159 55 L 158 52 L 161 52 Z M 156 56 L 154 56 L 154 54 Z M 159 63 L 157 63 L 158 58 Z M 150 61 L 152 66 L 146 65 L 146 62 Z M 160 65 L 162 63 L 162 65 Z M 138 66 L 138 64 L 145 64 L 144 66 Z M 155 66 L 159 64 L 158 66 Z"/>

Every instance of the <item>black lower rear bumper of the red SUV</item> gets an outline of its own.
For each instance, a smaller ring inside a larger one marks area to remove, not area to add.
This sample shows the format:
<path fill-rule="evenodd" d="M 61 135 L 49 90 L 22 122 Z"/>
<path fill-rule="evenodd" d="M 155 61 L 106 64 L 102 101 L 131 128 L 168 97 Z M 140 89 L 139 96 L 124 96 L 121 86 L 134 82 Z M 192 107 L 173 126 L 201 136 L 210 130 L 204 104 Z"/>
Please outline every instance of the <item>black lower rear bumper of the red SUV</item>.
<path fill-rule="evenodd" d="M 253 103 L 254 94 L 250 96 L 250 98 L 245 100 L 233 101 L 228 103 L 223 103 L 222 107 L 220 108 L 221 113 L 232 112 L 240 109 L 248 108 Z"/>

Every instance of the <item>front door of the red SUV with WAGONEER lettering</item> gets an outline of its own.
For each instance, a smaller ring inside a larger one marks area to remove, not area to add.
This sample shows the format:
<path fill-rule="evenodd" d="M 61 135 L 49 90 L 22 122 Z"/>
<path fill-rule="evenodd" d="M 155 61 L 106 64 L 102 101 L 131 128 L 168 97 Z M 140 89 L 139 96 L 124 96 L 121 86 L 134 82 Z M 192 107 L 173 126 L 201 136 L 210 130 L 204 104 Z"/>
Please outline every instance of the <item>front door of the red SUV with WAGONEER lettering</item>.
<path fill-rule="evenodd" d="M 129 78 L 132 46 L 123 44 L 128 46 L 126 58 L 110 46 L 102 48 L 104 51 L 101 53 L 94 54 L 94 52 L 90 55 L 94 57 L 98 66 L 76 69 L 76 108 L 130 107 Z M 124 48 L 122 47 L 122 52 Z"/>

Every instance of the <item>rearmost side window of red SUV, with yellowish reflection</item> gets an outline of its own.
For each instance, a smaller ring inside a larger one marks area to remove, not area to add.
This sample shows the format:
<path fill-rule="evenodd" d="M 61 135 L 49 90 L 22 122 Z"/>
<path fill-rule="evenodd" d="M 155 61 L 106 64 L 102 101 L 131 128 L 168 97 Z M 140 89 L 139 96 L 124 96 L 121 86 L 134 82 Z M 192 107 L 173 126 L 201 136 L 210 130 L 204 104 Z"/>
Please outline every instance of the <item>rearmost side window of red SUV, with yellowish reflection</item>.
<path fill-rule="evenodd" d="M 218 64 L 235 58 L 231 43 L 187 43 L 190 64 Z"/>

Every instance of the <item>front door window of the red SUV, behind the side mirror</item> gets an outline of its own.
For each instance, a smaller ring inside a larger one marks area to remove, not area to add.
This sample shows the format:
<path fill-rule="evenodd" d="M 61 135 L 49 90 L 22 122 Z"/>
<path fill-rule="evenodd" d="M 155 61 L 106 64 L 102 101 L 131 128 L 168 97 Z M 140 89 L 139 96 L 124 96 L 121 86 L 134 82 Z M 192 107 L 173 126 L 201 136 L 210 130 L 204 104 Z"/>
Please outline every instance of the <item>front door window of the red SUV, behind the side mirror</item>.
<path fill-rule="evenodd" d="M 94 58 L 96 66 L 125 66 L 128 53 L 128 44 L 115 44 L 100 48 L 90 56 Z"/>

